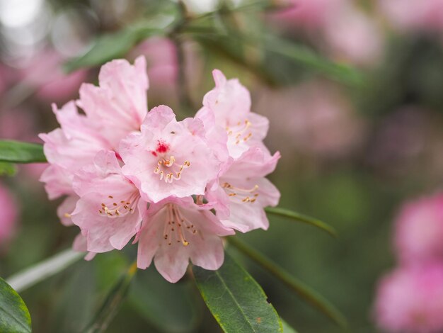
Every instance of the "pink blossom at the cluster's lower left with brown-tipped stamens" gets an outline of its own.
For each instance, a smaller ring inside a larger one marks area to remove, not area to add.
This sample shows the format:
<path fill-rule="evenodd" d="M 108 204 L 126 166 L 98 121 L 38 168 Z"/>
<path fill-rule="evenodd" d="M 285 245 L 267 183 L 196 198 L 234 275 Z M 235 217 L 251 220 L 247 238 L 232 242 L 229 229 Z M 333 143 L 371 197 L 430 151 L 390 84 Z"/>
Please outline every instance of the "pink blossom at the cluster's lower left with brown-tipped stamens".
<path fill-rule="evenodd" d="M 98 152 L 93 165 L 76 173 L 73 184 L 80 199 L 71 220 L 86 237 L 88 251 L 125 247 L 139 230 L 146 202 L 122 175 L 115 152 Z"/>

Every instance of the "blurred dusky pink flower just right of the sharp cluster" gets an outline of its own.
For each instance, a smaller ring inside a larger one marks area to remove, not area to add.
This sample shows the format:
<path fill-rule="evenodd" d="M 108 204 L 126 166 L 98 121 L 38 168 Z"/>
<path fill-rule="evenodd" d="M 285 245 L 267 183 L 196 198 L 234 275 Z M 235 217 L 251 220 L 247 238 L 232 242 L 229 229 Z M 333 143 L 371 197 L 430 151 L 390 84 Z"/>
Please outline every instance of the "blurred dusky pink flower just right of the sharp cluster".
<path fill-rule="evenodd" d="M 259 96 L 257 112 L 271 116 L 272 111 L 270 137 L 278 142 L 271 145 L 279 147 L 283 155 L 292 147 L 316 157 L 340 158 L 363 141 L 364 121 L 333 84 L 311 81 L 289 89 L 267 90 Z"/>

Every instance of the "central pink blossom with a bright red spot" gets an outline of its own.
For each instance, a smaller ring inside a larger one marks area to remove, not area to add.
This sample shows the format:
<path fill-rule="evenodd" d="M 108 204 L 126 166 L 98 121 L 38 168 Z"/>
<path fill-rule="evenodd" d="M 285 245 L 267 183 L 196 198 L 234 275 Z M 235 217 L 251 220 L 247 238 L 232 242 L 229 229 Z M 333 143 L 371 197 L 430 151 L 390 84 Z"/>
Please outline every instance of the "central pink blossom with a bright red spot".
<path fill-rule="evenodd" d="M 220 165 L 204 135 L 200 120 L 178 122 L 171 108 L 157 106 L 146 115 L 140 134 L 122 140 L 123 173 L 146 201 L 202 195 Z"/>

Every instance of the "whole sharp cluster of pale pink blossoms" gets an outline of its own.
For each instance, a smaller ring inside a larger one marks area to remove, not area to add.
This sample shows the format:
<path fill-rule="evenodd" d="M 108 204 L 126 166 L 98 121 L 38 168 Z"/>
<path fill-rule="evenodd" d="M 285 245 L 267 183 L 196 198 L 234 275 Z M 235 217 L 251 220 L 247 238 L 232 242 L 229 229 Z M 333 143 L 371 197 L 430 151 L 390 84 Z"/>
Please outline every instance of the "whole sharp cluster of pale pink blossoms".
<path fill-rule="evenodd" d="M 58 214 L 80 227 L 74 249 L 86 259 L 134 239 L 137 266 L 154 260 L 176 282 L 189 260 L 218 269 L 221 237 L 267 229 L 263 208 L 280 193 L 265 176 L 280 154 L 263 144 L 268 121 L 251 112 L 248 90 L 213 74 L 200 111 L 181 121 L 168 106 L 148 112 L 144 57 L 103 65 L 99 86 L 53 106 L 60 128 L 40 135 L 50 162 L 41 180 L 51 199 L 66 196 Z"/>

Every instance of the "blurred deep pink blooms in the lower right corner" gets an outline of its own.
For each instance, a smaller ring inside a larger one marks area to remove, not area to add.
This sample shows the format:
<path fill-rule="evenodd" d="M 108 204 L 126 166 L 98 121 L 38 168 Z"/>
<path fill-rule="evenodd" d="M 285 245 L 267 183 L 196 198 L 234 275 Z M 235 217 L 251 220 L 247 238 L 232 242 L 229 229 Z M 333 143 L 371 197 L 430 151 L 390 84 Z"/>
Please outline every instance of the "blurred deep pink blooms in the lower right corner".
<path fill-rule="evenodd" d="M 394 231 L 400 266 L 379 283 L 376 320 L 386 332 L 443 332 L 443 195 L 405 204 Z"/>

